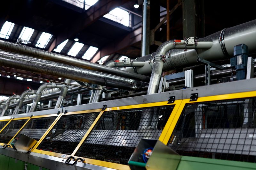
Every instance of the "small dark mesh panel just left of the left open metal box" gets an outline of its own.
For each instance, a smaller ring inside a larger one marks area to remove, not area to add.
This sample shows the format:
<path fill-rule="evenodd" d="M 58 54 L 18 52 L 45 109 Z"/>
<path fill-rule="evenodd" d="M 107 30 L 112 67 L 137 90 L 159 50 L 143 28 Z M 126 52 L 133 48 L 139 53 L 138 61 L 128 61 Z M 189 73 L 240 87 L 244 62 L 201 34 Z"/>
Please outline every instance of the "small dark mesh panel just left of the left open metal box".
<path fill-rule="evenodd" d="M 0 133 L 0 142 L 8 144 L 28 119 L 11 121 Z"/>

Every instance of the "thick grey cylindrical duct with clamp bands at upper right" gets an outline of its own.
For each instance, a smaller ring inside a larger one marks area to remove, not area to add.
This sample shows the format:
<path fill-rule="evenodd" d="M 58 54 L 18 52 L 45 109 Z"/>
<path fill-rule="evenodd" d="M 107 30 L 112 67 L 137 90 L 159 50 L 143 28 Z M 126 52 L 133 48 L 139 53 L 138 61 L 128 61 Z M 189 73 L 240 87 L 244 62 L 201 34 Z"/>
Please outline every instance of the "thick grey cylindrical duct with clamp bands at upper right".
<path fill-rule="evenodd" d="M 246 44 L 248 46 L 249 54 L 256 52 L 256 20 L 246 22 L 244 24 L 233 26 L 230 28 L 225 28 L 222 31 L 213 33 L 207 37 L 199 38 L 197 42 L 210 42 L 212 43 L 209 49 L 198 49 L 195 50 L 194 46 L 187 45 L 187 51 L 184 49 L 164 49 L 164 52 L 168 51 L 170 56 L 167 56 L 166 62 L 163 65 L 163 71 L 184 68 L 196 64 L 197 54 L 200 58 L 214 62 L 227 60 L 230 56 L 233 56 L 234 46 L 237 44 Z M 167 41 L 173 44 L 173 41 Z M 164 43 L 166 44 L 166 42 Z M 184 45 L 182 45 L 184 48 Z M 189 49 L 191 48 L 192 49 Z M 169 51 L 170 50 L 170 51 Z M 166 54 L 164 54 L 166 55 Z M 153 60 L 156 53 L 151 55 L 146 55 L 137 58 L 138 60 L 144 60 L 145 65 L 143 67 L 136 67 L 136 71 L 132 68 L 122 68 L 122 70 L 135 72 L 143 75 L 148 75 L 151 73 L 153 68 Z"/>

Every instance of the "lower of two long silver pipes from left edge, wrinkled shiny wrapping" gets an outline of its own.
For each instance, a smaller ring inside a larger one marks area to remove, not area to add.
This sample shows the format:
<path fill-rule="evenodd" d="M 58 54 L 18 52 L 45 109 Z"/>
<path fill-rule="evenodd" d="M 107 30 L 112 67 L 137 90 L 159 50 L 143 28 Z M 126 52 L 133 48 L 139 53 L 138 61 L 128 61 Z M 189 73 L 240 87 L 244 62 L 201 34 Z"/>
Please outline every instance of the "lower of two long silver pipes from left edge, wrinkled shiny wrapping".
<path fill-rule="evenodd" d="M 0 65 L 4 67 L 32 71 L 46 75 L 84 81 L 92 84 L 106 85 L 120 89 L 136 90 L 145 83 L 129 78 L 103 74 L 98 71 L 36 59 L 25 55 L 0 51 Z"/>

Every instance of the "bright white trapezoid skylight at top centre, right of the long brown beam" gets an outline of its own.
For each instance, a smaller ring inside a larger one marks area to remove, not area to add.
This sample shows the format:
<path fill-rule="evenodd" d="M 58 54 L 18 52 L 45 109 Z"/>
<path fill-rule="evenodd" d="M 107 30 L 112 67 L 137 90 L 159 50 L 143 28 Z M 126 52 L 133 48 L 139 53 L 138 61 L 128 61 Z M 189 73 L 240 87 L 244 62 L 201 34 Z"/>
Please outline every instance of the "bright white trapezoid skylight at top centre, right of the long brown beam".
<path fill-rule="evenodd" d="M 129 26 L 129 12 L 115 8 L 103 17 L 116 21 L 124 26 Z"/>

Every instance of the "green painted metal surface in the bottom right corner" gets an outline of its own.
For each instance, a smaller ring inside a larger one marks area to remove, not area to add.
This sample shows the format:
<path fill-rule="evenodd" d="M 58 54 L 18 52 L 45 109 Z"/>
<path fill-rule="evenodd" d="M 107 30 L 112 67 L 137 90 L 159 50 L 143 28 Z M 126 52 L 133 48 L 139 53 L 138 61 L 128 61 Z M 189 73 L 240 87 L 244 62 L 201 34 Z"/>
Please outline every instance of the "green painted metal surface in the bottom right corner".
<path fill-rule="evenodd" d="M 177 170 L 256 170 L 255 163 L 182 156 Z"/>

